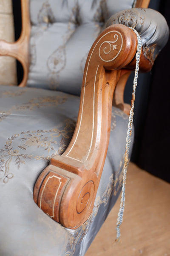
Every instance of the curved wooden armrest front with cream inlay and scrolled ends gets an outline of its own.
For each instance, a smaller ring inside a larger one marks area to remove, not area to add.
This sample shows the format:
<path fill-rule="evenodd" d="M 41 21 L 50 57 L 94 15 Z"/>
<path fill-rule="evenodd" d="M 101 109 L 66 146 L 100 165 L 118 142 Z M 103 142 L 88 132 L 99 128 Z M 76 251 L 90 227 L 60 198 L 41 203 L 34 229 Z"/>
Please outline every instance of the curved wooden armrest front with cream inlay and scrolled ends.
<path fill-rule="evenodd" d="M 96 39 L 85 64 L 71 143 L 35 183 L 36 204 L 65 227 L 76 229 L 92 212 L 108 150 L 113 92 L 136 49 L 136 35 L 124 25 L 112 25 Z"/>

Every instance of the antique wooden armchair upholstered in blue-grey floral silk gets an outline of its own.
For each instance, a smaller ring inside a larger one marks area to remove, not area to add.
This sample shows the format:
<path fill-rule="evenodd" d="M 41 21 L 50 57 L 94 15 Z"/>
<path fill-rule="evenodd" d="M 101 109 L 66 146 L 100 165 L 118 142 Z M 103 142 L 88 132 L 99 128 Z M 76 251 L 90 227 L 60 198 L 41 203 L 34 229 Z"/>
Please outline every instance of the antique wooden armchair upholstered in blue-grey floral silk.
<path fill-rule="evenodd" d="M 128 26 L 144 72 L 168 38 L 158 12 L 131 9 L 148 4 L 21 0 L 19 40 L 0 41 L 24 70 L 19 87 L 0 86 L 0 255 L 88 250 L 122 187 L 123 92 L 138 44 Z"/>

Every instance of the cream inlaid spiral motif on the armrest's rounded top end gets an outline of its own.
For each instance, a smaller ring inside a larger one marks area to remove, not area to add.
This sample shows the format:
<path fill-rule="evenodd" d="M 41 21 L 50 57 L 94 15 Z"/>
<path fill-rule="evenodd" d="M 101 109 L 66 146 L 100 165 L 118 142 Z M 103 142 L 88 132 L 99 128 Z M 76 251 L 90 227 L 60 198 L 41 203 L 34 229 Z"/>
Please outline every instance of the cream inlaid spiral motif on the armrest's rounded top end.
<path fill-rule="evenodd" d="M 113 41 L 104 41 L 99 47 L 99 57 L 102 61 L 111 62 L 113 61 L 122 50 L 123 38 L 120 32 L 112 31 Z"/>

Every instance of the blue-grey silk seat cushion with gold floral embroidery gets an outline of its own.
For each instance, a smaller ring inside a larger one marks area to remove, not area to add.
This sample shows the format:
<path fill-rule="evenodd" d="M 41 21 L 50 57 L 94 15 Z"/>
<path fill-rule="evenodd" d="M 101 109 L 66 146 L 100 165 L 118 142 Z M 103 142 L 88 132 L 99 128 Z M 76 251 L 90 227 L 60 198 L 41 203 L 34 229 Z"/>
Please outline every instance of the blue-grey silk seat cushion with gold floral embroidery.
<path fill-rule="evenodd" d="M 33 188 L 54 154 L 74 132 L 79 96 L 0 86 L 0 255 L 83 256 L 122 186 L 128 118 L 113 108 L 108 154 L 93 213 L 69 230 L 37 207 Z"/>

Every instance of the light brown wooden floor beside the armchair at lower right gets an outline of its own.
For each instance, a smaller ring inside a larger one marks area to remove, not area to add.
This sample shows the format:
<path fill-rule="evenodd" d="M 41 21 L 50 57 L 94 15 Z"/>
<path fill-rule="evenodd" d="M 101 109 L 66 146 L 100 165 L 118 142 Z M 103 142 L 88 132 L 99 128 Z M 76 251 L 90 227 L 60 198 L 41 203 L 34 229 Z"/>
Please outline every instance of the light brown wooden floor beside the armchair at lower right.
<path fill-rule="evenodd" d="M 122 242 L 113 244 L 119 204 L 85 256 L 170 256 L 170 184 L 130 163 Z"/>

